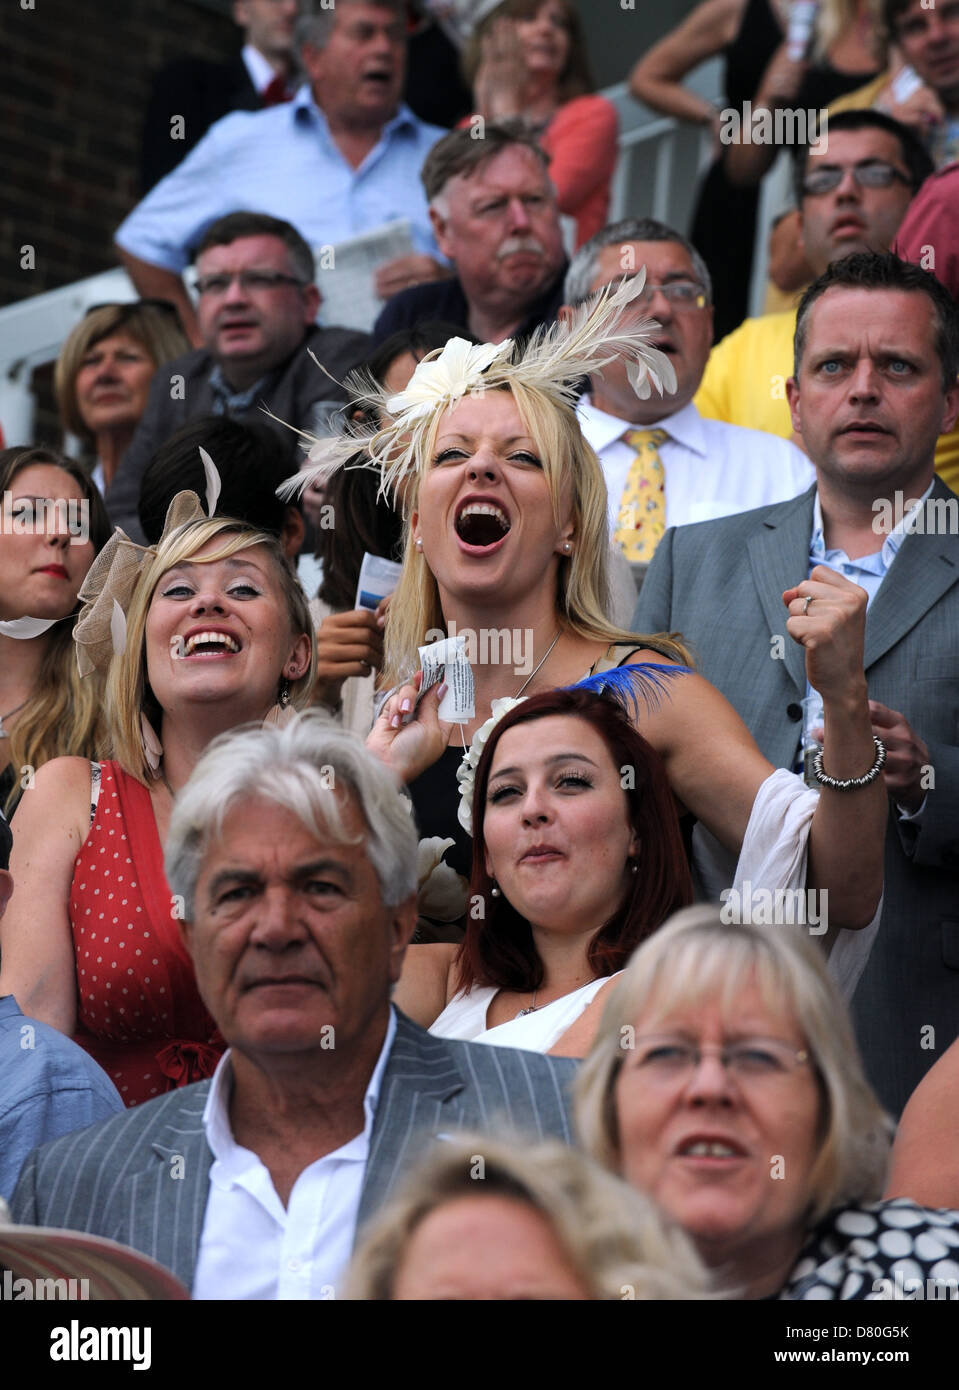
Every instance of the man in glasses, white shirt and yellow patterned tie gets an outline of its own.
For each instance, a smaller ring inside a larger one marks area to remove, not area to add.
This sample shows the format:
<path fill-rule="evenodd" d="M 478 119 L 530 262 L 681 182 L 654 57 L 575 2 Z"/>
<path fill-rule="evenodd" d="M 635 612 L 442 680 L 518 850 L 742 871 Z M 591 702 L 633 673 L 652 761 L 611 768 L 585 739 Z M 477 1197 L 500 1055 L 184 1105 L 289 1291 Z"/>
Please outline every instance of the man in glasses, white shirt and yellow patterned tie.
<path fill-rule="evenodd" d="M 795 445 L 703 420 L 692 403 L 713 341 L 713 295 L 703 259 L 681 232 L 652 217 L 598 232 L 573 257 L 560 317 L 644 270 L 637 311 L 657 321 L 653 345 L 673 363 L 677 389 L 641 400 L 617 356 L 593 377 L 578 406 L 580 427 L 606 477 L 610 530 L 627 559 L 638 563 L 652 559 L 666 525 L 784 502 L 813 481 L 812 464 Z M 652 480 L 644 464 L 653 455 L 642 453 L 650 442 L 657 470 Z M 653 482 L 645 488 L 653 493 L 646 506 L 631 500 L 639 475 Z"/>

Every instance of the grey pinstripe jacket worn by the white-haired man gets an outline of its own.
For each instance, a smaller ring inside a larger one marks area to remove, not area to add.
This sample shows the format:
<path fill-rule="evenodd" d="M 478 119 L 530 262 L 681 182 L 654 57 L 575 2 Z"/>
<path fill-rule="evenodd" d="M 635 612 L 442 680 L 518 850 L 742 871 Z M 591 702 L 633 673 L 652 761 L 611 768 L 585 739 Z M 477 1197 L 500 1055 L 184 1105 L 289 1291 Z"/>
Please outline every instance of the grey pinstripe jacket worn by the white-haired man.
<path fill-rule="evenodd" d="M 397 1012 L 357 1229 L 436 1134 L 509 1127 L 571 1143 L 574 1074 L 562 1058 L 432 1037 Z M 213 1165 L 202 1123 L 208 1090 L 208 1081 L 186 1086 L 35 1150 L 14 1193 L 14 1220 L 118 1240 L 190 1289 Z"/>

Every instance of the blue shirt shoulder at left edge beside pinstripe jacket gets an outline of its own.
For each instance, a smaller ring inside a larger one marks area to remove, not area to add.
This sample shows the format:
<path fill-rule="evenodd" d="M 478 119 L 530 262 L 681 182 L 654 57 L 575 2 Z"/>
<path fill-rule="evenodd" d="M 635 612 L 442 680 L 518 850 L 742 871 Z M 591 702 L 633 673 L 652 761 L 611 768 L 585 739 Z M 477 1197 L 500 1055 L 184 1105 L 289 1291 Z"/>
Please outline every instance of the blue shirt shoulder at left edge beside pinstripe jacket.
<path fill-rule="evenodd" d="M 124 1109 L 103 1068 L 76 1042 L 0 998 L 0 1197 L 10 1201 L 28 1154 Z"/>

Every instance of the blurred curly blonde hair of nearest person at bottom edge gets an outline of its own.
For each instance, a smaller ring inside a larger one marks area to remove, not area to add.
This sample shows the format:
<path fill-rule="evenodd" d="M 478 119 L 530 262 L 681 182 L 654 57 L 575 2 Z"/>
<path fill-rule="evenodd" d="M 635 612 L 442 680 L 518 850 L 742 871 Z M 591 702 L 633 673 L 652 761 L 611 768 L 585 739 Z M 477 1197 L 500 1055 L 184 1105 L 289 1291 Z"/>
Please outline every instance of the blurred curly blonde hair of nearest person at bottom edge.
<path fill-rule="evenodd" d="M 482 1180 L 475 1177 L 482 1161 Z M 391 1300 L 417 1227 L 448 1202 L 507 1197 L 546 1218 L 592 1298 L 706 1298 L 692 1241 L 656 1207 L 557 1140 L 457 1134 L 434 1144 L 360 1238 L 346 1297 Z"/>

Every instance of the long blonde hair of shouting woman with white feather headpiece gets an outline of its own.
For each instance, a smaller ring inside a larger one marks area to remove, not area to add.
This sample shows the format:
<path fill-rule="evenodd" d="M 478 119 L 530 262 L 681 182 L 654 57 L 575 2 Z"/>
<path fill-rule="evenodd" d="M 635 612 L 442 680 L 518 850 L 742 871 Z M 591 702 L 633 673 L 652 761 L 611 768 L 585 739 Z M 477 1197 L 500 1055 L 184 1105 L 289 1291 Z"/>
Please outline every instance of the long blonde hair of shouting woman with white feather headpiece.
<path fill-rule="evenodd" d="M 503 388 L 493 388 L 503 389 Z M 563 484 L 570 484 L 575 524 L 573 555 L 559 556 L 556 609 L 560 623 L 578 637 L 634 646 L 650 646 L 663 656 L 689 664 L 685 648 L 671 637 L 637 637 L 606 617 L 609 606 L 609 523 L 606 482 L 599 459 L 582 438 L 575 411 L 525 382 L 507 388 L 542 456 L 546 486 L 559 523 Z M 473 393 L 475 399 L 477 392 Z M 456 409 L 453 406 L 452 409 Z M 420 485 L 429 471 L 443 411 L 436 410 L 428 431 L 418 439 L 416 473 L 404 498 L 406 537 L 403 573 L 386 614 L 382 684 L 389 687 L 418 667 L 417 648 L 431 628 L 445 628 L 439 589 L 429 566 L 413 545 L 411 512 L 418 509 Z"/>

